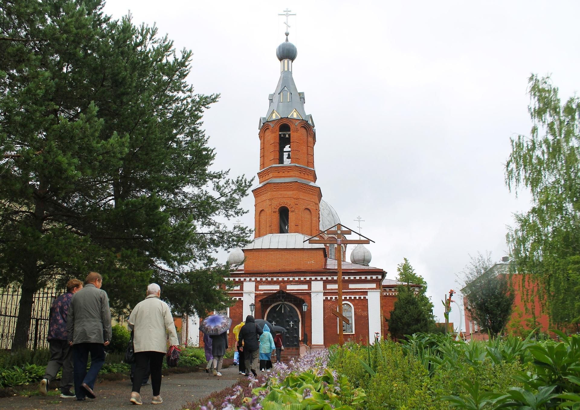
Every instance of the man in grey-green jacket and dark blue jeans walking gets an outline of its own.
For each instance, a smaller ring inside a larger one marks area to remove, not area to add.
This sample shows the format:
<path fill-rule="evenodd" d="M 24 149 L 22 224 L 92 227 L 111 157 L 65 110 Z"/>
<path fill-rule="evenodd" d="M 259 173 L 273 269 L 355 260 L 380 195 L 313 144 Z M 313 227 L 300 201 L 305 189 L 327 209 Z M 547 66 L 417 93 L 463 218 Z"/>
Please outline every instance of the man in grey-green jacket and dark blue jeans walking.
<path fill-rule="evenodd" d="M 91 272 L 85 286 L 73 295 L 67 317 L 68 344 L 73 346 L 74 392 L 77 400 L 96 398 L 95 380 L 105 362 L 105 346 L 111 342 L 111 309 L 103 277 Z M 90 368 L 86 371 L 89 360 Z"/>

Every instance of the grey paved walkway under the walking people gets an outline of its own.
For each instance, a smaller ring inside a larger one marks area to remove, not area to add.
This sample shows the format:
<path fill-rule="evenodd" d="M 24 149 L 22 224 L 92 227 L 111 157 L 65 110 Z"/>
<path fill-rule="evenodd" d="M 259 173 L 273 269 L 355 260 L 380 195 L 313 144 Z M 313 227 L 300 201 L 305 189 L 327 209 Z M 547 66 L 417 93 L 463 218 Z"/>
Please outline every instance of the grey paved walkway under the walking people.
<path fill-rule="evenodd" d="M 222 377 L 215 377 L 211 373 L 182 373 L 164 376 L 161 382 L 161 397 L 163 404 L 156 406 L 160 410 L 178 410 L 187 402 L 197 402 L 216 390 L 229 387 L 242 376 L 238 374 L 237 366 L 222 369 Z M 239 376 L 239 377 L 238 377 Z M 104 410 L 132 407 L 129 402 L 131 397 L 131 380 L 118 380 L 115 382 L 102 382 L 95 384 L 97 398 L 85 401 L 77 401 L 74 398 L 60 398 L 59 396 L 32 396 L 32 397 L 6 397 L 0 398 L 0 409 L 30 409 L 30 410 Z M 151 386 L 141 388 L 143 407 L 152 406 Z M 193 409 L 192 409 L 193 410 Z"/>

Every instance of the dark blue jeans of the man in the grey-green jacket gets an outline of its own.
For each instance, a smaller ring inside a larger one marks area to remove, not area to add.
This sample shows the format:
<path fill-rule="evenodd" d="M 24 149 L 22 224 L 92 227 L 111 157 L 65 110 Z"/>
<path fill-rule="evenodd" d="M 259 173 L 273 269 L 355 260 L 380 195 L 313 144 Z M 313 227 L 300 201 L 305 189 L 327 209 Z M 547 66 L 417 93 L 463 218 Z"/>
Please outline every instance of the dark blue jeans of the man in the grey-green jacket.
<path fill-rule="evenodd" d="M 91 389 L 95 387 L 97 375 L 105 362 L 105 347 L 103 343 L 77 343 L 73 344 L 74 353 L 74 392 L 77 399 L 86 397 L 81 384 L 86 383 Z M 89 361 L 90 368 L 86 371 Z"/>

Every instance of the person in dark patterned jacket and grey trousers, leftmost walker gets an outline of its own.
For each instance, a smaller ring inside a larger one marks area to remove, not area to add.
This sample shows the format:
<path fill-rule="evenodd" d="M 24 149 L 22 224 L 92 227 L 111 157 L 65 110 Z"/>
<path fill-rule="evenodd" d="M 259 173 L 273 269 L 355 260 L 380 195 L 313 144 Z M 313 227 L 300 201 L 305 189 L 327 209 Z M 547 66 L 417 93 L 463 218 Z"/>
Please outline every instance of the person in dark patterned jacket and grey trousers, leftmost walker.
<path fill-rule="evenodd" d="M 71 304 L 73 295 L 81 289 L 82 282 L 78 279 L 71 279 L 67 282 L 67 292 L 57 297 L 50 305 L 47 338 L 50 350 L 50 361 L 46 365 L 44 378 L 42 378 L 38 388 L 42 396 L 46 396 L 46 387 L 56 378 L 56 374 L 62 367 L 63 375 L 60 378 L 60 397 L 75 397 L 71 393 L 71 387 L 73 387 L 73 349 L 68 344 L 67 339 L 67 316 L 68 307 Z"/>

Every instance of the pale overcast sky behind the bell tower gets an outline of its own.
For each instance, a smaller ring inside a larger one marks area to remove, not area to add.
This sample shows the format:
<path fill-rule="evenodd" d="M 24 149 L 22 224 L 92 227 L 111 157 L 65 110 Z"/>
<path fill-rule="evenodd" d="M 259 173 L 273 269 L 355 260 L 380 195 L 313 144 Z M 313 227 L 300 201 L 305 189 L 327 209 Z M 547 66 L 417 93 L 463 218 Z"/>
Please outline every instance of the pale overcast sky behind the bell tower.
<path fill-rule="evenodd" d="M 562 99 L 577 92 L 580 2 L 109 0 L 104 10 L 131 10 L 193 50 L 189 81 L 221 94 L 204 116 L 215 166 L 255 176 L 286 8 L 325 201 L 346 226 L 365 220 L 371 266 L 387 278 L 409 259 L 443 321 L 440 300 L 469 254 L 507 255 L 506 226 L 530 207 L 504 184 L 510 137 L 530 132 L 532 72 L 552 75 Z M 251 194 L 244 206 L 253 227 Z"/>

